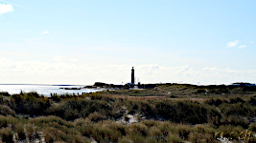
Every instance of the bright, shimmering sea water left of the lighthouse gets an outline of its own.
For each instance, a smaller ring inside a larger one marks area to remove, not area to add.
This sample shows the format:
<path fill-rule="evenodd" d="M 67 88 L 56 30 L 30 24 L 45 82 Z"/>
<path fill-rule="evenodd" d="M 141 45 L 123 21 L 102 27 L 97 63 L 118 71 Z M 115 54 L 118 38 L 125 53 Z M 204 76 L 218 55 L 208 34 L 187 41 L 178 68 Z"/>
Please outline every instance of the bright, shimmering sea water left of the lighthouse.
<path fill-rule="evenodd" d="M 60 88 L 81 88 L 82 86 L 52 86 L 52 85 L 0 85 L 0 92 L 9 92 L 10 94 L 22 92 L 37 92 L 44 96 L 50 96 L 51 93 L 57 94 L 81 94 L 82 92 L 99 92 L 101 90 L 81 89 L 64 90 Z"/>

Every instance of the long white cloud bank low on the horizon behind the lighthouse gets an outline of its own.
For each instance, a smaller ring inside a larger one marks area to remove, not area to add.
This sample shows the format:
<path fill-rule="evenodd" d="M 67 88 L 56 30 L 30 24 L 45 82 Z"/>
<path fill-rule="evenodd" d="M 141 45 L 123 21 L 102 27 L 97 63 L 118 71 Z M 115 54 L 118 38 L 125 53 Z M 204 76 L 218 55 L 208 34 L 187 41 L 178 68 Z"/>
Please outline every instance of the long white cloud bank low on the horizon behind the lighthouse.
<path fill-rule="evenodd" d="M 56 56 L 57 60 L 65 59 Z M 130 70 L 134 66 L 136 81 L 141 83 L 191 83 L 230 84 L 237 81 L 256 81 L 256 70 L 234 70 L 231 68 L 207 67 L 195 69 L 188 65 L 171 67 L 157 64 L 126 65 L 107 64 L 80 60 L 76 64 L 53 62 L 52 60 L 15 61 L 0 58 L 1 83 L 43 83 L 43 84 L 93 84 L 105 82 L 123 84 L 130 82 Z M 14 78 L 13 78 L 14 77 Z"/>

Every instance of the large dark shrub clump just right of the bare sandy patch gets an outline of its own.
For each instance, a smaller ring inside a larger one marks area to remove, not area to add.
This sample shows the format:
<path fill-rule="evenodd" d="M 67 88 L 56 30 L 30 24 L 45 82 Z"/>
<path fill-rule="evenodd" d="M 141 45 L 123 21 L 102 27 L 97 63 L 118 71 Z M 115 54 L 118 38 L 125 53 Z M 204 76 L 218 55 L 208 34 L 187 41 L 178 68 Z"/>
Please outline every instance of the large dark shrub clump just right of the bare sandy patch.
<path fill-rule="evenodd" d="M 207 116 L 218 113 L 213 108 L 207 109 L 205 106 L 191 101 L 158 101 L 151 104 L 151 106 L 151 112 L 145 113 L 152 114 L 146 114 L 146 116 L 153 116 L 157 120 L 170 120 L 176 123 L 207 123 Z"/>

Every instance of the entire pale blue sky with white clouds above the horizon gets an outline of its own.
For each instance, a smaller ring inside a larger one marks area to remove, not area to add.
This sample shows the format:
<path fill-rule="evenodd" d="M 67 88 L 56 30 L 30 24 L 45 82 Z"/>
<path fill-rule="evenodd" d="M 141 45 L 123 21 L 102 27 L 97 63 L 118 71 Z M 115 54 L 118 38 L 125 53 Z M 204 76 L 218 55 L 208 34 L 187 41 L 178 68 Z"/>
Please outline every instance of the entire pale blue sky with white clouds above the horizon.
<path fill-rule="evenodd" d="M 256 83 L 255 0 L 0 0 L 0 84 Z"/>

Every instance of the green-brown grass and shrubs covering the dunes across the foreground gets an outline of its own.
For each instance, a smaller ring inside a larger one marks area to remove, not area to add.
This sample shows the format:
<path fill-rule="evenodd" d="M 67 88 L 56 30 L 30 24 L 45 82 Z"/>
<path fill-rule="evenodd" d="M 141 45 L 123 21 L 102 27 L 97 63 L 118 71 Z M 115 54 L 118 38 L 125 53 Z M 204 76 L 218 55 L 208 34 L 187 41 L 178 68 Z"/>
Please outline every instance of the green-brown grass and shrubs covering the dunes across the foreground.
<path fill-rule="evenodd" d="M 75 96 L 0 92 L 0 137 L 3 142 L 255 142 L 253 90 L 164 85 Z"/>

